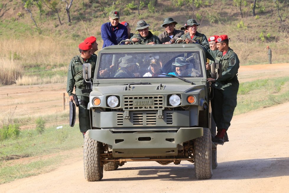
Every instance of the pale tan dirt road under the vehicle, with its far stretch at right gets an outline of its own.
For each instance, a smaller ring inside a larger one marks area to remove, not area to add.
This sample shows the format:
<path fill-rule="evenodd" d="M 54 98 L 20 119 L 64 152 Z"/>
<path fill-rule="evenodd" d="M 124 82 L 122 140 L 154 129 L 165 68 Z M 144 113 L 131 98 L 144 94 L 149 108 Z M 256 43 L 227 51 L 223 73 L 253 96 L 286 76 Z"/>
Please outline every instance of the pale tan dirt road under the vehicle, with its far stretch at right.
<path fill-rule="evenodd" d="M 266 65 L 255 67 L 249 72 L 241 67 L 239 80 L 252 80 L 254 73 L 274 73 L 278 65 L 268 65 L 267 70 Z M 286 76 L 288 67 L 278 70 Z M 256 76 L 260 77 L 268 78 Z M 218 167 L 208 180 L 197 180 L 194 165 L 185 161 L 164 166 L 128 162 L 116 171 L 104 171 L 99 182 L 87 182 L 79 148 L 55 171 L 1 184 L 0 192 L 288 192 L 288 109 L 289 102 L 234 116 L 230 141 L 217 146 Z"/>

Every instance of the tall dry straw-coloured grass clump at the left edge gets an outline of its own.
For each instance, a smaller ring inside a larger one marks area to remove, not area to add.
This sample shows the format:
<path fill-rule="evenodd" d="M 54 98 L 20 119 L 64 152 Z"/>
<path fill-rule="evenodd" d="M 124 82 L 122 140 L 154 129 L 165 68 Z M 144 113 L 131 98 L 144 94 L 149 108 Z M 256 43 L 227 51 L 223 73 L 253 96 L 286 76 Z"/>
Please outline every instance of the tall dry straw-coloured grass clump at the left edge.
<path fill-rule="evenodd" d="M 23 74 L 21 65 L 13 59 L 0 58 L 0 68 L 0 85 L 13 84 Z"/>

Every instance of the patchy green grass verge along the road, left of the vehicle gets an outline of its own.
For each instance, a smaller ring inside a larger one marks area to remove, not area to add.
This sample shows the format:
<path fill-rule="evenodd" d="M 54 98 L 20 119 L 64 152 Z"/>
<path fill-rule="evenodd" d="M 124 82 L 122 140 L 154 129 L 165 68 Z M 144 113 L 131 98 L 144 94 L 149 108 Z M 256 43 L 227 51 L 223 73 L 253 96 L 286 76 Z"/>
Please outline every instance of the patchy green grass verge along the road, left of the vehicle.
<path fill-rule="evenodd" d="M 0 184 L 53 170 L 66 156 L 43 159 L 41 156 L 81 147 L 82 143 L 82 134 L 77 125 L 73 128 L 69 125 L 64 125 L 61 129 L 46 128 L 41 135 L 35 130 L 22 130 L 17 139 L 3 140 L 0 143 Z M 16 164 L 9 162 L 15 157 L 33 156 L 40 157 L 40 160 Z"/>

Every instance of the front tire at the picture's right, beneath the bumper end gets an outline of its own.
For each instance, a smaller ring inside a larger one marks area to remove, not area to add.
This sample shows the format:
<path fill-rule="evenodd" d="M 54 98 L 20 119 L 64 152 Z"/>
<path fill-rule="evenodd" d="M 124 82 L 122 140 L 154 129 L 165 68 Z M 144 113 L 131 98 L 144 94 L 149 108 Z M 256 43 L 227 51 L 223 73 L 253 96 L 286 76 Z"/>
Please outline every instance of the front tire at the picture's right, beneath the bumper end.
<path fill-rule="evenodd" d="M 211 132 L 204 128 L 202 137 L 194 139 L 194 160 L 196 178 L 210 179 L 212 177 L 212 140 Z"/>

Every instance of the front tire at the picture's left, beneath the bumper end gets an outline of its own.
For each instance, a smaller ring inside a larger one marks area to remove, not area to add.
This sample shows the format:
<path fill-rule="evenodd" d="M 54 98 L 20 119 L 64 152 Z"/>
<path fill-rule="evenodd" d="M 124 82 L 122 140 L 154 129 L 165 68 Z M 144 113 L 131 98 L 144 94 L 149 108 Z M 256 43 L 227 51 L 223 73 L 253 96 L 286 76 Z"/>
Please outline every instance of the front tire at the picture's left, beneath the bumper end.
<path fill-rule="evenodd" d="M 90 139 L 89 131 L 84 136 L 83 162 L 84 176 L 87 181 L 100 181 L 103 178 L 103 163 L 100 154 L 104 152 L 103 143 Z"/>

